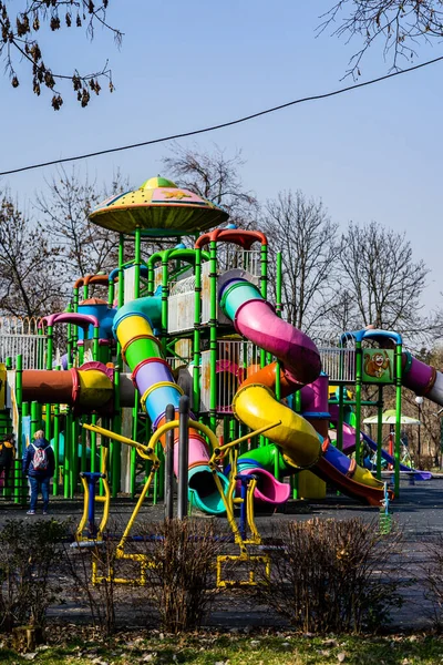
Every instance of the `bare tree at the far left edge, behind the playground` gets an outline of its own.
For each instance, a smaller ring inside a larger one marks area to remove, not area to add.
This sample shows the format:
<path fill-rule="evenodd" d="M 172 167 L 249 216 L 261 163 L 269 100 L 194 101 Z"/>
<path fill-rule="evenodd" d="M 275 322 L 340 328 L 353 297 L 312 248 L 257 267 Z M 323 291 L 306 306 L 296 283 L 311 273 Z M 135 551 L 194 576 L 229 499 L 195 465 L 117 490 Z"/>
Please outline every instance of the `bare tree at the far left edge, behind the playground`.
<path fill-rule="evenodd" d="M 60 247 L 35 227 L 8 194 L 0 203 L 0 310 L 14 316 L 42 316 L 62 306 L 53 257 Z"/>

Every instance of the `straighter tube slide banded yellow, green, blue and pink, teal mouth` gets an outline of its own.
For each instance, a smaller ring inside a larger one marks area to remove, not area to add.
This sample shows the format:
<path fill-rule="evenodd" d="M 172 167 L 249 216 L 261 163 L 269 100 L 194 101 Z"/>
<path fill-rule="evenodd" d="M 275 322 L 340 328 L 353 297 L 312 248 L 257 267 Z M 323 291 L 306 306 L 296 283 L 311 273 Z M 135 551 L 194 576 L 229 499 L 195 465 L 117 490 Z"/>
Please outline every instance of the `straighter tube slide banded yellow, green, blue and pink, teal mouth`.
<path fill-rule="evenodd" d="M 163 358 L 159 340 L 154 336 L 156 323 L 161 320 L 161 298 L 147 297 L 133 300 L 121 307 L 115 315 L 113 331 L 122 345 L 122 356 L 132 370 L 133 381 L 140 393 L 142 406 L 150 416 L 153 429 L 165 422 L 167 405 L 178 412 L 182 389 L 174 380 L 171 368 Z M 205 439 L 189 430 L 189 499 L 198 509 L 210 514 L 225 512 L 213 472 L 208 466 L 209 451 Z M 174 471 L 178 470 L 178 432 L 174 439 Z M 218 473 L 222 485 L 228 489 L 228 480 Z"/>

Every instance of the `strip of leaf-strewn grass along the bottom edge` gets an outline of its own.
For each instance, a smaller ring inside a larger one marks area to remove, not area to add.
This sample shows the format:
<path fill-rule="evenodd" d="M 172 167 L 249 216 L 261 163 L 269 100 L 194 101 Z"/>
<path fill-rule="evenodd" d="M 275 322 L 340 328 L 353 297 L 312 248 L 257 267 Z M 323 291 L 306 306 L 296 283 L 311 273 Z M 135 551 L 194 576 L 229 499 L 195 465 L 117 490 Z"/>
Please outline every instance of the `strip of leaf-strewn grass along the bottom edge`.
<path fill-rule="evenodd" d="M 66 631 L 68 633 L 68 631 Z M 293 633 L 255 632 L 163 635 L 146 640 L 117 634 L 107 644 L 73 638 L 45 646 L 34 654 L 0 648 L 0 663 L 19 665 L 435 665 L 443 661 L 443 640 L 437 635 L 310 637 Z"/>

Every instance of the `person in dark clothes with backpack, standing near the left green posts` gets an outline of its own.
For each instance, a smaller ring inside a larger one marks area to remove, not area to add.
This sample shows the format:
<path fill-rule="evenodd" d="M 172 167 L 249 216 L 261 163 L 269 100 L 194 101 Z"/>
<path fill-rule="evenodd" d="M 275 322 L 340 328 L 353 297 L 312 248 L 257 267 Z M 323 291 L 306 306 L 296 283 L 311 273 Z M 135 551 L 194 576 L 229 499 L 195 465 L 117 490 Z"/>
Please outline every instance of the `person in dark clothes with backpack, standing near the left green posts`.
<path fill-rule="evenodd" d="M 34 440 L 27 448 L 23 457 L 23 473 L 31 485 L 31 505 L 29 515 L 35 514 L 39 493 L 43 499 L 43 515 L 48 514 L 49 485 L 55 470 L 54 451 L 44 438 L 43 430 L 34 433 Z"/>

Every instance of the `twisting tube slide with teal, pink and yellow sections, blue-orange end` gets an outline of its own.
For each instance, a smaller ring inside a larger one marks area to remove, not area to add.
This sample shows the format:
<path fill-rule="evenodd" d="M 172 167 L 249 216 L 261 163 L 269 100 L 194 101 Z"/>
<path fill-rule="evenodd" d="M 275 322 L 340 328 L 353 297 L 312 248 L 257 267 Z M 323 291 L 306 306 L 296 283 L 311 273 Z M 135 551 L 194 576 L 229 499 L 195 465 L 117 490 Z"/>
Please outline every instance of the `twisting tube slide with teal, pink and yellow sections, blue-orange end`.
<path fill-rule="evenodd" d="M 317 379 L 321 362 L 312 340 L 281 320 L 259 290 L 248 280 L 225 275 L 220 293 L 223 311 L 240 335 L 276 356 L 280 362 L 280 395 L 285 397 Z M 234 398 L 234 412 L 251 429 L 280 424 L 267 437 L 284 451 L 284 460 L 296 469 L 309 469 L 323 480 L 332 481 L 343 493 L 372 505 L 383 500 L 383 483 L 354 460 L 322 440 L 301 416 L 275 397 L 277 364 L 268 365 L 248 377 Z M 248 453 L 249 454 L 249 453 Z"/>

